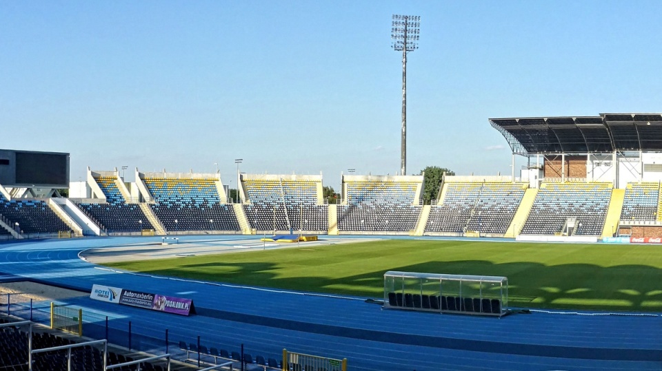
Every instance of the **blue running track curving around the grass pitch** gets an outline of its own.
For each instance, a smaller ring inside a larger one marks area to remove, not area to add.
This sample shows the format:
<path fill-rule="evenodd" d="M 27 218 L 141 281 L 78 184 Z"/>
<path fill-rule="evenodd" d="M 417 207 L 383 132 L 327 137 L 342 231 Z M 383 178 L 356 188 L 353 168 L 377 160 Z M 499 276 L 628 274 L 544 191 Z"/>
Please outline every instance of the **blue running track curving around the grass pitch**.
<path fill-rule="evenodd" d="M 374 237 L 374 236 L 370 236 Z M 234 246 L 252 236 L 187 236 Z M 88 248 L 160 242 L 161 237 L 108 237 L 0 244 L 1 273 L 90 291 L 103 284 L 193 299 L 198 315 L 181 317 L 106 304 L 81 306 L 86 334 L 123 339 L 132 322 L 134 348 L 163 353 L 165 329 L 175 344 L 279 358 L 295 352 L 347 358 L 350 370 L 662 370 L 662 317 L 534 312 L 501 319 L 381 310 L 361 298 L 259 290 L 111 271 L 83 261 Z M 45 305 L 45 304 L 37 304 Z M 118 340 L 121 341 L 121 340 Z M 170 346 L 170 352 L 176 346 Z"/>

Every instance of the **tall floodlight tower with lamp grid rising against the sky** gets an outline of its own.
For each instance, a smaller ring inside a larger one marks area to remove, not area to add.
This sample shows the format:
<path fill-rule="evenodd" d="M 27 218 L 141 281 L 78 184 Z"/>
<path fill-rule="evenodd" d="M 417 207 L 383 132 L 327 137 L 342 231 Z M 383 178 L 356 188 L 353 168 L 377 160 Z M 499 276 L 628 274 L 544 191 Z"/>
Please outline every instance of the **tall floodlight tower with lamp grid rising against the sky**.
<path fill-rule="evenodd" d="M 402 139 L 400 145 L 400 175 L 407 175 L 407 52 L 419 48 L 421 17 L 393 14 L 391 47 L 402 52 Z"/>

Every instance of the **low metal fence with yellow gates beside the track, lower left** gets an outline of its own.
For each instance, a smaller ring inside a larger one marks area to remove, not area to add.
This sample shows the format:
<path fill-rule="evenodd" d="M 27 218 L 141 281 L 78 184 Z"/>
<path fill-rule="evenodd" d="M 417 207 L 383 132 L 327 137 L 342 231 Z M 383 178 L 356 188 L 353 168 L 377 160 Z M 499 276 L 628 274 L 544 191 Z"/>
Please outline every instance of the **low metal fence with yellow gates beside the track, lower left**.
<path fill-rule="evenodd" d="M 265 354 L 261 344 L 216 343 L 179 328 L 154 331 L 122 315 L 83 310 L 57 302 L 36 300 L 26 294 L 0 294 L 0 312 L 30 318 L 37 324 L 61 328 L 88 339 L 105 339 L 131 352 L 186 361 L 205 370 L 326 370 L 346 371 L 346 359 L 331 359 L 283 350 Z M 259 347 L 259 348 L 258 348 Z M 142 360 L 146 361 L 146 360 Z"/>

